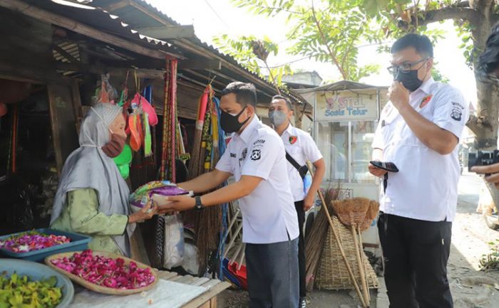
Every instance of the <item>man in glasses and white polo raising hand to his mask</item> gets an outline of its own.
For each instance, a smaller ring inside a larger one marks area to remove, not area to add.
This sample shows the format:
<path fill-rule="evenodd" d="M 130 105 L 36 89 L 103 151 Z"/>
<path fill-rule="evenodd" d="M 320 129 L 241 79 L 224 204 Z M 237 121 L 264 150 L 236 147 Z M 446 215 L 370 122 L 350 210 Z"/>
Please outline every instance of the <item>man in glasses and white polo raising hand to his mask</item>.
<path fill-rule="evenodd" d="M 395 80 L 373 142 L 373 159 L 399 170 L 381 189 L 378 222 L 390 307 L 451 308 L 446 267 L 468 104 L 459 90 L 431 78 L 426 36 L 403 36 L 391 53 Z M 386 174 L 372 164 L 369 171 Z"/>

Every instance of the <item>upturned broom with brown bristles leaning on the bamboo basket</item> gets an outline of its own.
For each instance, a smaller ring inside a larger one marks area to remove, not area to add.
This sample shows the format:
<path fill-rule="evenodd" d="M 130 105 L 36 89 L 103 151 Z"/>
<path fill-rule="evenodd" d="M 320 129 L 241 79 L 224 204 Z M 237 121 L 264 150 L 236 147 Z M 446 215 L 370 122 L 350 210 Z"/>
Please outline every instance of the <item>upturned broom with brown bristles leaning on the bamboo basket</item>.
<path fill-rule="evenodd" d="M 362 262 L 364 250 L 361 248 L 362 240 L 360 233 L 360 225 L 364 223 L 366 213 L 369 208 L 369 199 L 366 198 L 353 198 L 344 201 L 335 201 L 333 203 L 334 211 L 339 218 L 339 221 L 351 229 L 351 234 L 354 236 L 355 253 L 357 263 L 359 264 L 359 274 L 362 284 L 362 292 L 364 293 L 364 300 L 369 307 L 369 290 L 367 287 L 366 271 L 364 262 Z M 359 234 L 357 234 L 359 230 Z M 359 236 L 359 238 L 357 238 Z"/>

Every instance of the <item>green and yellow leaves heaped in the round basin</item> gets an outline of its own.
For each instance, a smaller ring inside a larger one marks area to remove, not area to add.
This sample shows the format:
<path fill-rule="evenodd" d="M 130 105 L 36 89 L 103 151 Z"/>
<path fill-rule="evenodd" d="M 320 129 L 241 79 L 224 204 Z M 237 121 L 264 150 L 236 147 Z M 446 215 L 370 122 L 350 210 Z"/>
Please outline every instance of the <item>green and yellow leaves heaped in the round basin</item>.
<path fill-rule="evenodd" d="M 63 297 L 62 288 L 56 287 L 57 278 L 33 280 L 16 273 L 10 277 L 0 274 L 0 307 L 57 307 Z"/>

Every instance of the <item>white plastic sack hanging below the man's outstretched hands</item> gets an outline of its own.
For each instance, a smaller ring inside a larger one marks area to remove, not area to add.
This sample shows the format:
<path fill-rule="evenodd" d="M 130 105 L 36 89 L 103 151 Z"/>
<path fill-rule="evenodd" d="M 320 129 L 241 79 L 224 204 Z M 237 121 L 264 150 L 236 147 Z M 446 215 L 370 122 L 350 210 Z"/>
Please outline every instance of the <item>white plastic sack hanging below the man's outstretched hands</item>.
<path fill-rule="evenodd" d="M 165 250 L 163 267 L 170 270 L 184 260 L 184 225 L 177 215 L 165 216 Z"/>

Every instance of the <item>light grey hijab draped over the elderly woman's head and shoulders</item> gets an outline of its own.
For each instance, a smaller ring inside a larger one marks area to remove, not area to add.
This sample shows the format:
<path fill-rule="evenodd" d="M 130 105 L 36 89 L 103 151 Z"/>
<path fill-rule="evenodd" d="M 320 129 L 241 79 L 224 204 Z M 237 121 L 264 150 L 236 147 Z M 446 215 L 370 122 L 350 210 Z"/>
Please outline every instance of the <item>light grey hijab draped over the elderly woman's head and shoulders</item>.
<path fill-rule="evenodd" d="M 61 172 L 61 180 L 53 202 L 51 223 L 61 215 L 68 191 L 81 188 L 93 188 L 97 191 L 98 211 L 108 216 L 129 215 L 128 186 L 113 159 L 101 149 L 109 142 L 109 125 L 121 112 L 121 107 L 109 103 L 98 103 L 88 110 L 81 124 L 80 147 L 68 156 Z M 123 255 L 130 256 L 129 237 L 133 230 L 135 224 L 127 225 L 128 236 L 125 234 L 113 236 Z"/>

